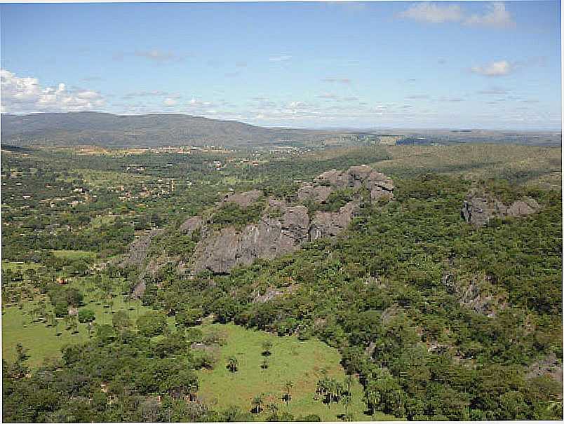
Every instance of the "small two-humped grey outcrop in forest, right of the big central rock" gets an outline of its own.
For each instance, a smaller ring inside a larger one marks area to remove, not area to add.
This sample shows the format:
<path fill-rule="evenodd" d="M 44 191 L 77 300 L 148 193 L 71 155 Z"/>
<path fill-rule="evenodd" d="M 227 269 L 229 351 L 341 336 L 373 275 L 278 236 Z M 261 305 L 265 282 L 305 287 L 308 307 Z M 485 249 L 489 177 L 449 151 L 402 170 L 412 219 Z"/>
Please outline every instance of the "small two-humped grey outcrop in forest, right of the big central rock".
<path fill-rule="evenodd" d="M 540 206 L 535 199 L 523 198 L 506 206 L 500 200 L 492 198 L 485 193 L 471 191 L 461 214 L 466 222 L 476 227 L 485 226 L 492 218 L 524 217 L 539 210 Z"/>

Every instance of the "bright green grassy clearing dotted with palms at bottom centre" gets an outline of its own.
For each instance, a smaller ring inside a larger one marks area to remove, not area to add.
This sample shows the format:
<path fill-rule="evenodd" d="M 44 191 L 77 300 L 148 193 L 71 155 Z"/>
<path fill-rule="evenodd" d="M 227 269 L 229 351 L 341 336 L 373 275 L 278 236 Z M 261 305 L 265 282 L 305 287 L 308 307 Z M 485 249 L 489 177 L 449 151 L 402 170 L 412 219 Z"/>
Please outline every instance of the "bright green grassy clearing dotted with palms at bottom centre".
<path fill-rule="evenodd" d="M 219 360 L 213 370 L 199 371 L 199 397 L 214 409 L 223 410 L 236 405 L 243 411 L 250 411 L 251 402 L 256 395 L 262 395 L 264 410 L 257 414 L 257 420 L 266 420 L 270 412 L 267 405 L 276 403 L 278 413 L 287 411 L 295 418 L 315 413 L 322 420 L 339 420 L 345 413 L 342 404 L 332 404 L 330 408 L 321 400 L 314 399 L 316 383 L 325 371 L 328 376 L 343 382 L 344 371 L 340 365 L 340 354 L 321 341 L 299 341 L 297 337 L 277 337 L 264 331 L 244 329 L 234 324 L 203 325 L 204 333 L 218 331 L 224 337 Z M 260 367 L 262 342 L 271 341 L 269 367 Z M 239 369 L 227 369 L 229 357 L 235 356 Z M 286 381 L 293 382 L 292 399 L 288 406 L 283 402 Z M 392 420 L 394 417 L 377 413 L 364 414 L 362 387 L 356 379 L 351 386 L 352 402 L 348 406 L 355 420 Z"/>

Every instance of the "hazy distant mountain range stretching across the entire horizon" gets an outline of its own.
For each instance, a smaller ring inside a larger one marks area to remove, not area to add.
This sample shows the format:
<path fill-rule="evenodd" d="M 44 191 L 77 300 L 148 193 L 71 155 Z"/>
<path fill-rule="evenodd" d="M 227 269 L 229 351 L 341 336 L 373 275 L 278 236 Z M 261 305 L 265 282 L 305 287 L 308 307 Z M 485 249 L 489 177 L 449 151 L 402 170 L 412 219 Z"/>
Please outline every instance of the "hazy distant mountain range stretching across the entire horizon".
<path fill-rule="evenodd" d="M 393 144 L 502 143 L 561 146 L 561 132 L 383 129 L 304 130 L 263 128 L 182 114 L 114 115 L 100 112 L 1 115 L 4 146 L 161 147 L 161 146 L 335 146 Z M 385 138 L 385 137 L 384 137 Z"/>

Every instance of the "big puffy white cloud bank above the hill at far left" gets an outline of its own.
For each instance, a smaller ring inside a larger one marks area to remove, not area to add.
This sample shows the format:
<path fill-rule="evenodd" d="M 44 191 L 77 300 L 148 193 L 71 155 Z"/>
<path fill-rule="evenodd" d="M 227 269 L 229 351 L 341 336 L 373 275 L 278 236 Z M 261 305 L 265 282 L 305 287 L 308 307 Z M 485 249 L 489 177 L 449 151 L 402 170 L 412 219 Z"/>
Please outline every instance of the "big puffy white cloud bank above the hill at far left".
<path fill-rule="evenodd" d="M 95 90 L 67 90 L 64 83 L 57 87 L 41 87 L 39 79 L 16 76 L 0 70 L 2 113 L 88 111 L 105 105 Z"/>

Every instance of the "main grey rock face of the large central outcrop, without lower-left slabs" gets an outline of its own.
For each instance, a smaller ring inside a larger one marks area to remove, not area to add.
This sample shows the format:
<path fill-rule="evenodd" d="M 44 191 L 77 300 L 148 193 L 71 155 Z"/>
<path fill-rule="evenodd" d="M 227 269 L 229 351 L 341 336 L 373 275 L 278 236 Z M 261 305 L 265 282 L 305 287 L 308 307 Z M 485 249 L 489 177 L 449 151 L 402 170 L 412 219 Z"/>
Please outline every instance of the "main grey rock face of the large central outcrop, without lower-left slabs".
<path fill-rule="evenodd" d="M 370 190 L 372 200 L 393 196 L 394 182 L 391 179 L 372 167 L 361 165 L 350 167 L 347 171 L 323 172 L 313 184 L 302 185 L 297 198 L 323 203 L 335 190 L 358 189 L 361 186 Z M 248 207 L 262 196 L 264 193 L 258 190 L 234 193 L 226 196 L 223 203 L 234 202 Z M 349 226 L 358 207 L 358 200 L 353 200 L 337 212 L 318 211 L 310 219 L 307 207 L 288 206 L 286 200 L 268 198 L 260 221 L 239 231 L 231 226 L 211 231 L 194 217 L 183 224 L 184 228 L 202 228 L 203 237 L 193 257 L 194 271 L 208 269 L 214 273 L 229 273 L 234 266 L 252 264 L 257 258 L 273 259 L 295 251 L 304 242 L 333 237 Z"/>

